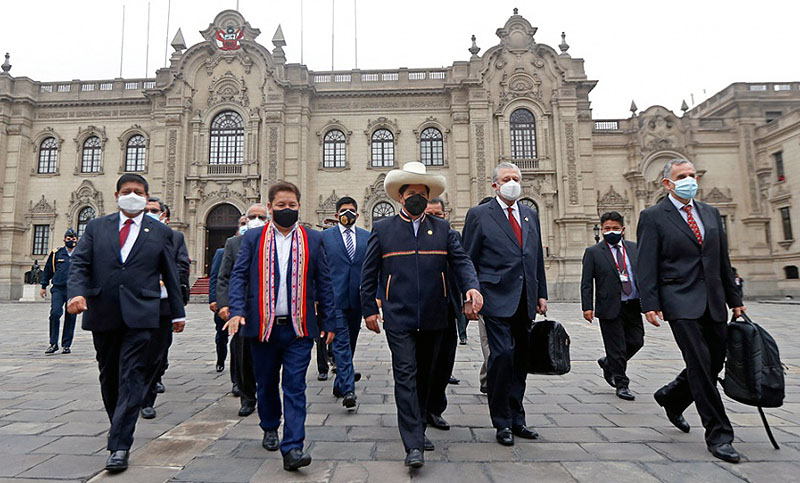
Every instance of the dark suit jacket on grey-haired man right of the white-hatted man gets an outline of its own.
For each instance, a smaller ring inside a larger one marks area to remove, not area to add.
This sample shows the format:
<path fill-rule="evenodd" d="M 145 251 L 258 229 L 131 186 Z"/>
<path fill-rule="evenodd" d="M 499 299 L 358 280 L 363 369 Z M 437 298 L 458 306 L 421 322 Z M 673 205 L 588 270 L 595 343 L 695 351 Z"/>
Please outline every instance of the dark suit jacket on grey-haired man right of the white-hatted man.
<path fill-rule="evenodd" d="M 464 221 L 462 243 L 481 282 L 481 314 L 512 317 L 524 286 L 528 316 L 533 320 L 538 300 L 547 298 L 541 229 L 539 215 L 522 203 L 518 206 L 522 247 L 496 199 L 470 208 Z"/>

